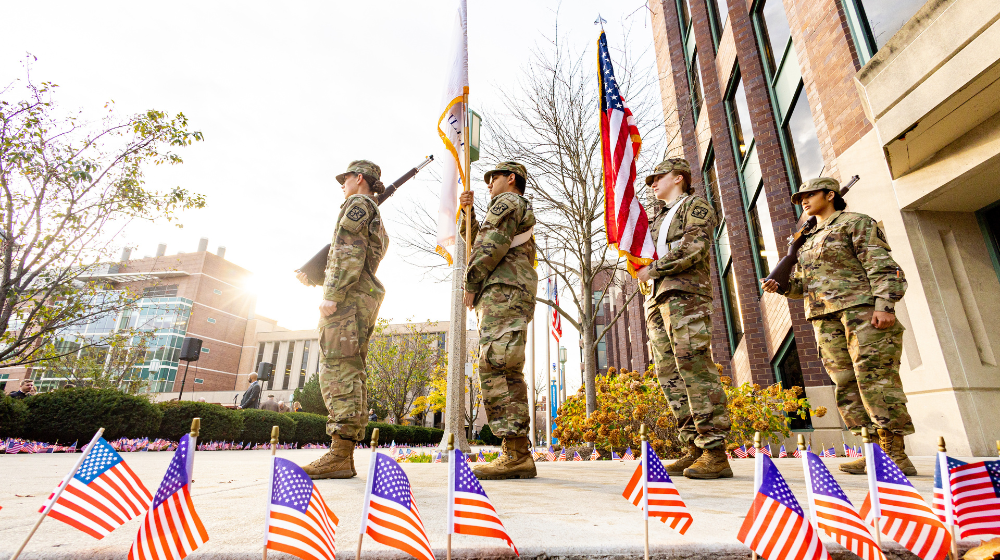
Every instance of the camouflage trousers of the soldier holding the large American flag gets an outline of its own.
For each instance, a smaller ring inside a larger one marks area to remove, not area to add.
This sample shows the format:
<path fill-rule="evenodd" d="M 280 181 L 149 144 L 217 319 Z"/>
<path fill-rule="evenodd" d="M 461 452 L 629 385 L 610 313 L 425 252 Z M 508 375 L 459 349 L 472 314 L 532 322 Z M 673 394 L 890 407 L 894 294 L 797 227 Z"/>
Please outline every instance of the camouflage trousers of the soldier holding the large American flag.
<path fill-rule="evenodd" d="M 667 292 L 646 304 L 646 328 L 681 442 L 702 449 L 725 445 L 730 422 L 712 359 L 712 298 Z"/>

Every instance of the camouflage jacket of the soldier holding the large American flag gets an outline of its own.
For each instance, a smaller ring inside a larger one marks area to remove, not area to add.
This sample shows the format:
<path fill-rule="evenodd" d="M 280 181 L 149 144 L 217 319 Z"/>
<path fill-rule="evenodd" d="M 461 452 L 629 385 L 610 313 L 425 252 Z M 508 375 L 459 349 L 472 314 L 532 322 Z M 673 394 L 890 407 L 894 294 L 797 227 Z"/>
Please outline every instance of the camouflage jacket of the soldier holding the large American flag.
<path fill-rule="evenodd" d="M 679 204 L 681 207 L 674 215 L 666 239 L 667 243 L 675 245 L 667 254 L 657 254 L 659 259 L 649 265 L 654 298 L 659 299 L 671 290 L 712 297 L 709 248 L 715 228 L 715 211 L 707 200 L 697 195 L 689 195 Z M 672 207 L 672 204 L 661 204 L 653 216 L 650 235 L 654 244 Z"/>

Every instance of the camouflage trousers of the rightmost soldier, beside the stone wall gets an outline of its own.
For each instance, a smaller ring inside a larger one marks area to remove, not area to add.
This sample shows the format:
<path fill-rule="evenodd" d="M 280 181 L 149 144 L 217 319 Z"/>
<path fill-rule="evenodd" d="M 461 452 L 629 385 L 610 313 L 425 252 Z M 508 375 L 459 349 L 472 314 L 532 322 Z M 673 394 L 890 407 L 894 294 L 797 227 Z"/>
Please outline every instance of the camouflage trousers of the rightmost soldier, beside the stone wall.
<path fill-rule="evenodd" d="M 872 326 L 871 305 L 859 305 L 814 317 L 820 356 L 837 385 L 837 408 L 854 433 L 862 427 L 913 433 L 906 395 L 899 379 L 903 325 Z"/>

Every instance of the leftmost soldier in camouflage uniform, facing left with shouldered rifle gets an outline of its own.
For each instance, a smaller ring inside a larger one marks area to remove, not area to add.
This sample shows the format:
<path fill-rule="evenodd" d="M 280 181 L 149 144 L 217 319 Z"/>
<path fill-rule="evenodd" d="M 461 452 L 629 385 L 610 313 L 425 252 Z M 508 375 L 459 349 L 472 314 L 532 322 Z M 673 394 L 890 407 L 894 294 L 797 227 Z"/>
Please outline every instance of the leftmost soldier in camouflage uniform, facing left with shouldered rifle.
<path fill-rule="evenodd" d="M 352 161 L 337 175 L 344 204 L 327 258 L 319 322 L 319 385 L 329 411 L 330 451 L 303 467 L 311 478 L 351 478 L 354 445 L 365 437 L 368 395 L 365 359 L 385 288 L 375 277 L 389 246 L 374 195 L 385 192 L 382 170 Z M 300 275 L 301 276 L 301 275 Z M 303 283 L 306 281 L 303 280 Z"/>

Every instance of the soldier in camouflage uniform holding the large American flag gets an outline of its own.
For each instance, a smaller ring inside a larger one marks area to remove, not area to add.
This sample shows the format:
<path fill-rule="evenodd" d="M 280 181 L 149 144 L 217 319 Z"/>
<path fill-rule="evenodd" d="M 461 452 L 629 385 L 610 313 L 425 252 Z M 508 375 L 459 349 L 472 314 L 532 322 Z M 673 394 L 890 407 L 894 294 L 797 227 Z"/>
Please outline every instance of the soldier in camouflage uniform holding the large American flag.
<path fill-rule="evenodd" d="M 646 300 L 646 327 L 656 377 L 677 419 L 687 453 L 666 465 L 688 478 L 729 478 L 726 457 L 729 413 L 726 393 L 712 359 L 712 282 L 709 247 L 715 212 L 691 187 L 691 167 L 682 158 L 661 162 L 646 177 L 659 205 L 650 233 L 659 257 L 638 271 L 653 281 Z"/>

